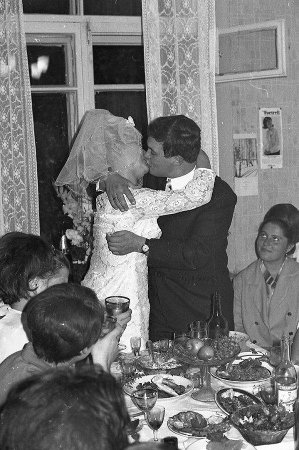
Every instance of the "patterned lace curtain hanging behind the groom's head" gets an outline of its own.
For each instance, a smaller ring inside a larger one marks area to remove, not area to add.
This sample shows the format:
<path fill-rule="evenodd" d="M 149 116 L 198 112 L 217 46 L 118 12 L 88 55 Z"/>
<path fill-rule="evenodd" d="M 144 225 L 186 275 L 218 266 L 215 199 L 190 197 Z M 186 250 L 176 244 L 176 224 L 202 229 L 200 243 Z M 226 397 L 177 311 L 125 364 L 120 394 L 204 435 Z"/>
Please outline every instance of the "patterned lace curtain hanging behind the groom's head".
<path fill-rule="evenodd" d="M 148 118 L 185 114 L 218 172 L 215 1 L 142 0 Z"/>

